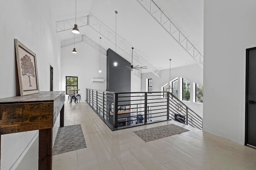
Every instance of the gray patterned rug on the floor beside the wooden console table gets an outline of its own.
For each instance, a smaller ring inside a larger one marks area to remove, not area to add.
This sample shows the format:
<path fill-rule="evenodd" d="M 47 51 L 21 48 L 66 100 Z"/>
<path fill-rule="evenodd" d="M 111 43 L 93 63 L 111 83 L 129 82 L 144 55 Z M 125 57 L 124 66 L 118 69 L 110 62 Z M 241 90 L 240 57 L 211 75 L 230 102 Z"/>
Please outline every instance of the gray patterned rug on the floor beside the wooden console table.
<path fill-rule="evenodd" d="M 86 148 L 81 125 L 59 127 L 52 155 Z"/>

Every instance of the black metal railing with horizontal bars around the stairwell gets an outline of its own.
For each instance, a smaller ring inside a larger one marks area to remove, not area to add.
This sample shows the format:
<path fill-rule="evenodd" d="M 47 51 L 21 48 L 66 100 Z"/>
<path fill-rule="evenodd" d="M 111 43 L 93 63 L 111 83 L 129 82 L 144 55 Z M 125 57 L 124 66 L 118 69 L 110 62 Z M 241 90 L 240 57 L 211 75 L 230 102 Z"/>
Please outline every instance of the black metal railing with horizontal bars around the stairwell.
<path fill-rule="evenodd" d="M 86 88 L 86 102 L 112 130 L 170 119 L 202 129 L 202 118 L 170 92 L 108 92 Z"/>

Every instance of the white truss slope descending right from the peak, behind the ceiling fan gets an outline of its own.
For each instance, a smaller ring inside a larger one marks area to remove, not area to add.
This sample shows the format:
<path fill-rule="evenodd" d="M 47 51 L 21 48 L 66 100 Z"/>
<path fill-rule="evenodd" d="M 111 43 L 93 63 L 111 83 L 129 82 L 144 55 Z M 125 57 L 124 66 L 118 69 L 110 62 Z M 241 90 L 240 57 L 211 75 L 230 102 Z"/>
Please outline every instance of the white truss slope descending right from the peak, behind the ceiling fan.
<path fill-rule="evenodd" d="M 116 46 L 126 52 L 128 55 L 132 57 L 132 47 L 126 44 L 124 41 L 120 40 L 118 37 L 115 36 L 114 33 L 111 33 L 105 26 L 99 23 L 96 19 L 92 16 L 89 16 L 89 25 L 106 39 L 111 41 L 113 44 L 116 43 Z M 115 42 L 116 41 L 116 42 Z M 138 61 L 143 66 L 147 66 L 148 69 L 156 74 L 156 76 L 160 77 L 160 70 L 161 68 L 154 66 L 152 63 L 147 61 L 144 57 L 139 55 L 136 51 L 133 51 L 133 58 Z"/>

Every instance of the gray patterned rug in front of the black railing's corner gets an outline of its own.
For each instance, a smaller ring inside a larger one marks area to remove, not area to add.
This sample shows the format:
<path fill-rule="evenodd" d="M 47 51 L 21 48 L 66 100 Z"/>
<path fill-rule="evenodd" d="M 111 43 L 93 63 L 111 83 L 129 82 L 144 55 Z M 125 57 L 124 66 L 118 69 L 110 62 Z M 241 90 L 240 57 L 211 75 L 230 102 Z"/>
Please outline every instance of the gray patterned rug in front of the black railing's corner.
<path fill-rule="evenodd" d="M 134 131 L 134 133 L 136 133 L 136 135 L 138 135 L 143 141 L 149 142 L 154 141 L 156 139 L 161 139 L 163 137 L 177 135 L 187 131 L 189 130 L 174 124 L 170 124 Z"/>

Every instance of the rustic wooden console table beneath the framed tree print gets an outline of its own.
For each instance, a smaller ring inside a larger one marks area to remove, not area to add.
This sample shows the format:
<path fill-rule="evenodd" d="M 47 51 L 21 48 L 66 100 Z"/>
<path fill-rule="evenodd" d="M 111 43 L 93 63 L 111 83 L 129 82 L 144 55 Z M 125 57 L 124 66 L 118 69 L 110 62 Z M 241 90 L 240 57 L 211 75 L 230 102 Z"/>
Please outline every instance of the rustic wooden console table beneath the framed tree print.
<path fill-rule="evenodd" d="M 64 126 L 64 102 L 56 91 L 0 99 L 0 144 L 1 135 L 39 130 L 38 170 L 52 170 L 52 127 L 59 113 Z"/>

